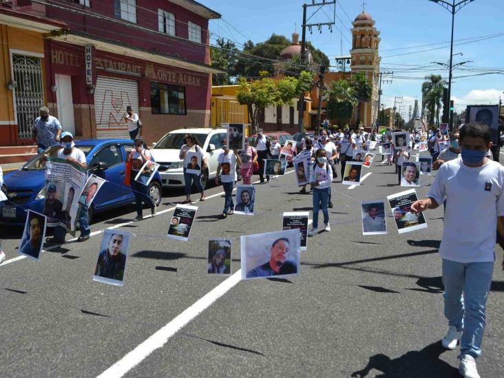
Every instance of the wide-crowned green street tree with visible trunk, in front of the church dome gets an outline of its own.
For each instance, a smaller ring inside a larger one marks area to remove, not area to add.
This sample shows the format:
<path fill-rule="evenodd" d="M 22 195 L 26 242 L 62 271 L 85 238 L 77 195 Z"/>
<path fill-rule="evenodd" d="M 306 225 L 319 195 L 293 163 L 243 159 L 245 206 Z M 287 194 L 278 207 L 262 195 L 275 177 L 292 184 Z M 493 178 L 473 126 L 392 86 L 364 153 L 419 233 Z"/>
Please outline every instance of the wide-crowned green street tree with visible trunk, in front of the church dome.
<path fill-rule="evenodd" d="M 275 81 L 268 75 L 268 72 L 261 71 L 259 80 L 247 81 L 242 77 L 238 82 L 240 87 L 236 98 L 240 105 L 246 105 L 249 110 L 249 120 L 255 132 L 259 126 L 259 113 L 264 112 L 266 107 L 290 104 L 293 98 L 301 96 L 311 88 L 310 72 L 301 72 L 300 78 L 286 76 L 280 81 Z"/>

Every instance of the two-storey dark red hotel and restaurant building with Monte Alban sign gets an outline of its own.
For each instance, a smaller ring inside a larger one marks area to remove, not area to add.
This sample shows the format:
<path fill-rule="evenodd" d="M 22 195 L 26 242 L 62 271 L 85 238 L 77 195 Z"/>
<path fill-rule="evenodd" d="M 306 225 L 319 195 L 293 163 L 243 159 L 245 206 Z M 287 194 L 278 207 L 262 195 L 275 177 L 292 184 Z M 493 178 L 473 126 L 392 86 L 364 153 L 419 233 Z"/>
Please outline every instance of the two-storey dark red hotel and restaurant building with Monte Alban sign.
<path fill-rule="evenodd" d="M 129 138 L 127 105 L 148 143 L 209 126 L 211 74 L 220 71 L 209 65 L 208 22 L 220 14 L 192 0 L 17 3 L 67 25 L 45 35 L 45 102 L 77 138 Z"/>

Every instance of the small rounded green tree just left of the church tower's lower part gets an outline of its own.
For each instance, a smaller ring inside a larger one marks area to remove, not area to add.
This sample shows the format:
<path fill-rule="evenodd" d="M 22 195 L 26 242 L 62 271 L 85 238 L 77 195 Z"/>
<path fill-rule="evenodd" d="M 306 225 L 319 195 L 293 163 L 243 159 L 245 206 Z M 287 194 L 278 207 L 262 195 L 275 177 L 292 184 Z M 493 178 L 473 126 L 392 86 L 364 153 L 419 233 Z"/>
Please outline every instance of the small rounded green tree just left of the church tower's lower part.
<path fill-rule="evenodd" d="M 355 88 L 344 79 L 330 83 L 327 110 L 331 123 L 344 125 L 352 118 L 353 108 L 359 101 Z"/>

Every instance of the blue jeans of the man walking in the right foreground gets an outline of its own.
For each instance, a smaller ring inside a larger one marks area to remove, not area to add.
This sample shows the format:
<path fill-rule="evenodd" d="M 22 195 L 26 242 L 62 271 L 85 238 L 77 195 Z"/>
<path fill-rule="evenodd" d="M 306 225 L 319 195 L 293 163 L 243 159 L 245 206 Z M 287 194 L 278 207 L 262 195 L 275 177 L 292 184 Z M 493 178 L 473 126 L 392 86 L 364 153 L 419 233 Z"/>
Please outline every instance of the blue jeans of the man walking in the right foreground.
<path fill-rule="evenodd" d="M 481 355 L 487 302 L 493 262 L 454 262 L 443 260 L 445 317 L 448 325 L 461 331 L 460 355 Z"/>

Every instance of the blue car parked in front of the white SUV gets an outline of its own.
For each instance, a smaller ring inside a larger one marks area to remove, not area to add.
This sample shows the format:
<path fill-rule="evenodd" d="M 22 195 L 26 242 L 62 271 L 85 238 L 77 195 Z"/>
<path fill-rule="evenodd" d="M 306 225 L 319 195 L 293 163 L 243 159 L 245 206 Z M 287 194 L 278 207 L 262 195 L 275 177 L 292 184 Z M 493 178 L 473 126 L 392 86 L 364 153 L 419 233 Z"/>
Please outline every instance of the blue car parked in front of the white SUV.
<path fill-rule="evenodd" d="M 135 202 L 132 189 L 123 184 L 126 173 L 125 161 L 127 154 L 134 147 L 133 140 L 83 139 L 76 140 L 75 146 L 86 156 L 88 174 L 107 180 L 93 200 L 90 222 L 96 213 Z M 43 155 L 56 156 L 59 149 L 61 149 L 59 145 L 49 147 L 42 154 L 26 162 L 18 171 L 13 171 L 4 177 L 3 183 L 6 185 L 8 201 L 1 211 L 0 224 L 21 226 L 25 224 L 25 210 L 43 212 L 45 201 Z M 149 184 L 149 193 L 156 206 L 161 202 L 161 188 L 161 176 L 156 172 Z"/>

